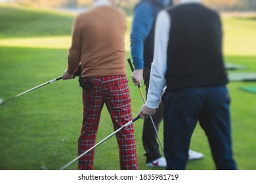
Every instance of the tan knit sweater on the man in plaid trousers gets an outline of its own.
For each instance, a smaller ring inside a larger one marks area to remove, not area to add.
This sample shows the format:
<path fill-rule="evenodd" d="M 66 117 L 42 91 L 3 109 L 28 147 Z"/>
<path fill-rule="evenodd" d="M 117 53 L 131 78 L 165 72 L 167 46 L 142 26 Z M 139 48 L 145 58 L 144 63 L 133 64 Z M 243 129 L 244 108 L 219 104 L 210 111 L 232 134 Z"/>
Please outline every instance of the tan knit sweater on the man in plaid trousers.
<path fill-rule="evenodd" d="M 72 46 L 68 52 L 68 73 L 79 63 L 82 76 L 126 75 L 124 12 L 116 7 L 93 7 L 74 21 Z"/>

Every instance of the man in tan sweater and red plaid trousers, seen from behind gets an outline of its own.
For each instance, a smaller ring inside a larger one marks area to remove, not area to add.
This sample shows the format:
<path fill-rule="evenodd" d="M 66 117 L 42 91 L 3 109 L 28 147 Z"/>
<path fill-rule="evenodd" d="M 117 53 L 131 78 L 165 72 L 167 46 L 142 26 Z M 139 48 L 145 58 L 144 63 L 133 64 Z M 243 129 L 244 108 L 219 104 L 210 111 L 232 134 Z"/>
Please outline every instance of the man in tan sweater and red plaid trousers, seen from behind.
<path fill-rule="evenodd" d="M 125 30 L 125 14 L 114 6 L 114 0 L 95 0 L 92 8 L 75 18 L 63 79 L 73 78 L 81 64 L 83 125 L 79 155 L 95 145 L 104 104 L 115 131 L 133 118 L 126 77 Z M 133 124 L 116 133 L 116 138 L 120 169 L 138 169 Z M 80 158 L 79 169 L 94 169 L 94 156 L 95 151 L 91 150 Z"/>

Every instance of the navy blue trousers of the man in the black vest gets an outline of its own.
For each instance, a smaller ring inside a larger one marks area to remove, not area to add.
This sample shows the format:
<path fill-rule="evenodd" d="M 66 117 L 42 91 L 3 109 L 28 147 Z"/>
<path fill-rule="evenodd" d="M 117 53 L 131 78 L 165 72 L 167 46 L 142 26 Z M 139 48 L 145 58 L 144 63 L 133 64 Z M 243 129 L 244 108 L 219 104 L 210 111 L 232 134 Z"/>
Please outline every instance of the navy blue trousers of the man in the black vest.
<path fill-rule="evenodd" d="M 190 140 L 199 121 L 217 169 L 236 169 L 232 156 L 230 97 L 226 86 L 188 88 L 163 97 L 166 169 L 185 169 Z"/>

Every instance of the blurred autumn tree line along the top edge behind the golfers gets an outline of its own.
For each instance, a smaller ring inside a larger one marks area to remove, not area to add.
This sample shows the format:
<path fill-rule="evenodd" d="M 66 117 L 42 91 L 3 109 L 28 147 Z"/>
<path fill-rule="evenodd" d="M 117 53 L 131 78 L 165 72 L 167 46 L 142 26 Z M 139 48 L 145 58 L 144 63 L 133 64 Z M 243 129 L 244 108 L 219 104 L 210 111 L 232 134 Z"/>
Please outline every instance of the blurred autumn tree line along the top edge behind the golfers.
<path fill-rule="evenodd" d="M 132 10 L 139 0 L 116 0 L 118 6 L 125 10 Z M 160 0 L 159 0 L 160 1 Z M 209 7 L 222 11 L 255 11 L 256 0 L 202 0 Z M 88 7 L 93 0 L 11 0 L 11 3 L 19 3 L 33 7 L 51 8 L 75 8 Z"/>

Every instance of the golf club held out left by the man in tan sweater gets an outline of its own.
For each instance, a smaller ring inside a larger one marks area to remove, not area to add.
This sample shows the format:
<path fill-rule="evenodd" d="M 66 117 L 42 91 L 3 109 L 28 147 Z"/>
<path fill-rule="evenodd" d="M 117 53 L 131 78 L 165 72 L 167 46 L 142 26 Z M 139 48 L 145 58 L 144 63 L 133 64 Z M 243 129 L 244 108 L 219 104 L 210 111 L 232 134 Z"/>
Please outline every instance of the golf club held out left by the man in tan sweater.
<path fill-rule="evenodd" d="M 81 65 L 79 65 L 79 67 L 77 69 L 77 72 L 75 73 L 73 78 L 75 78 L 75 76 L 80 76 L 80 75 L 81 75 Z M 12 101 L 13 99 L 16 99 L 17 97 L 20 97 L 20 96 L 22 96 L 22 95 L 24 95 L 26 93 L 29 93 L 29 92 L 32 92 L 33 90 L 36 90 L 37 88 L 40 88 L 42 86 L 45 86 L 47 84 L 50 84 L 52 82 L 55 82 L 55 81 L 61 80 L 61 79 L 62 79 L 62 76 L 60 76 L 58 78 L 54 78 L 53 80 L 49 80 L 48 82 L 40 84 L 39 86 L 35 86 L 34 88 L 31 88 L 30 90 L 26 90 L 25 92 L 22 92 L 22 93 L 20 93 L 20 94 L 18 94 L 16 96 L 12 97 L 11 99 L 7 99 L 6 101 L 4 101 L 3 99 L 0 99 L 0 105 L 4 105 L 5 103 L 7 103 L 9 101 Z"/>

